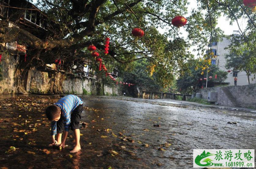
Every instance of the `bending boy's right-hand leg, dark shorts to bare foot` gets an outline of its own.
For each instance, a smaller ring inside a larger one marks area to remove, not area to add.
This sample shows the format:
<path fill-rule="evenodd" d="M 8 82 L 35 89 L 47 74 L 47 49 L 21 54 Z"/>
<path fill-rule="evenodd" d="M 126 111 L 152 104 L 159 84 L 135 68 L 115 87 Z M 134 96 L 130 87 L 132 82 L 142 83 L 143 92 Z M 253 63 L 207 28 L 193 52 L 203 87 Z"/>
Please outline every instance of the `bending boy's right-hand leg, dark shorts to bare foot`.
<path fill-rule="evenodd" d="M 83 111 L 83 105 L 78 105 L 74 111 L 71 114 L 71 130 L 74 132 L 74 137 L 76 141 L 76 145 L 71 153 L 76 153 L 77 151 L 81 150 L 80 146 L 80 119 L 81 119 L 81 114 Z"/>

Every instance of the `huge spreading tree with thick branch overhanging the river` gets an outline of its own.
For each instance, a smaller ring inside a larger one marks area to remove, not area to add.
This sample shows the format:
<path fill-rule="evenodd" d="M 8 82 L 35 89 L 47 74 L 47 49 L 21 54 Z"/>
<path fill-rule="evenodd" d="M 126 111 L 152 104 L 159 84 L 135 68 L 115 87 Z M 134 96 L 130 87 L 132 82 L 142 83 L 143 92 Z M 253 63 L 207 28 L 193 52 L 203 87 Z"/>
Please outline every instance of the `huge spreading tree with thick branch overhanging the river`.
<path fill-rule="evenodd" d="M 170 78 L 173 76 L 169 75 L 182 75 L 188 69 L 186 60 L 192 57 L 188 48 L 198 46 L 196 50 L 201 55 L 209 40 L 221 37 L 222 31 L 216 27 L 221 15 L 231 19 L 231 22 L 247 18 L 248 26 L 240 42 L 247 43 L 248 49 L 253 49 L 255 44 L 255 14 L 248 12 L 242 1 L 197 2 L 197 9 L 188 13 L 190 3 L 187 0 L 38 0 L 36 6 L 49 19 L 46 38 L 40 39 L 17 27 L 10 29 L 3 20 L 0 42 L 19 40 L 29 46 L 32 56 L 30 64 L 20 66 L 21 70 L 25 70 L 24 67 L 53 63 L 55 58 L 64 60 L 67 67 L 73 61 L 93 60 L 84 49 L 94 44 L 102 50 L 105 37 L 110 37 L 109 55 L 100 53 L 106 65 L 118 62 L 126 64 L 126 69 L 129 66 L 127 63 L 147 58 L 149 72 L 158 71 L 159 82 L 164 86 L 173 80 Z M 186 38 L 171 24 L 171 19 L 177 15 L 188 19 L 184 26 L 188 34 Z M 145 36 L 137 41 L 131 35 L 134 27 L 145 31 Z M 166 33 L 160 34 L 158 28 L 165 29 Z M 137 54 L 142 57 L 136 58 Z"/>

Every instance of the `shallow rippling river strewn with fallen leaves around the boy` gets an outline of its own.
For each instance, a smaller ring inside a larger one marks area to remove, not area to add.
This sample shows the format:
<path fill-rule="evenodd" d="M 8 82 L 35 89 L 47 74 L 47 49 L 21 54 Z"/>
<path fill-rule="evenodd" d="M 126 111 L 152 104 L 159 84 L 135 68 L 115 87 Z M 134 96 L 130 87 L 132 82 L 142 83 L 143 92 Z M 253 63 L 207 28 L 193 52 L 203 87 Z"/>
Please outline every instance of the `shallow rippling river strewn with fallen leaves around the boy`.
<path fill-rule="evenodd" d="M 59 151 L 49 146 L 50 122 L 44 110 L 58 96 L 0 100 L 0 167 L 186 169 L 193 167 L 193 149 L 254 149 L 256 145 L 252 113 L 181 101 L 81 97 L 82 150 L 76 154 L 69 153 L 74 145 L 71 131 L 68 147 Z"/>

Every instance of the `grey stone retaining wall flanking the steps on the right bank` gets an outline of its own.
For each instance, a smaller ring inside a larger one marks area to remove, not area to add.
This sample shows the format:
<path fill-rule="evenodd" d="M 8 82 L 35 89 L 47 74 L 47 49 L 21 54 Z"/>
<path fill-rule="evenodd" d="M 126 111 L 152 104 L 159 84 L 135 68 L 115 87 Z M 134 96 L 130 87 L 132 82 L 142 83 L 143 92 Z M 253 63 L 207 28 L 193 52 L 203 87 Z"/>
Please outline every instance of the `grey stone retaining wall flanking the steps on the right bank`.
<path fill-rule="evenodd" d="M 244 86 L 227 86 L 228 90 L 231 92 L 232 96 L 236 98 L 236 101 L 242 107 L 254 107 L 256 108 L 256 84 L 244 85 Z M 221 87 L 210 87 L 200 89 L 201 97 L 203 99 L 208 98 L 208 93 L 210 91 L 216 91 L 217 102 L 219 105 L 232 106 L 231 101 L 228 99 L 226 94 L 222 91 Z"/>

